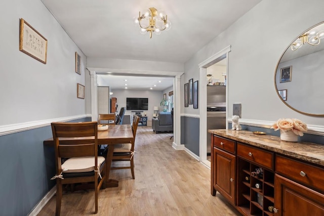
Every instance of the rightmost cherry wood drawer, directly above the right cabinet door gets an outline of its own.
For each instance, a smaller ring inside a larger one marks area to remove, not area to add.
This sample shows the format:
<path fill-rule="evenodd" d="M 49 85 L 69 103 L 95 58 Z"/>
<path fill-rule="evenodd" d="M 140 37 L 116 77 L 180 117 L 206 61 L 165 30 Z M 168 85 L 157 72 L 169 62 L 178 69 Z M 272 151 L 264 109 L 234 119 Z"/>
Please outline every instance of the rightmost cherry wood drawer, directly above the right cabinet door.
<path fill-rule="evenodd" d="M 276 155 L 275 169 L 282 176 L 324 191 L 324 169 L 320 167 Z"/>

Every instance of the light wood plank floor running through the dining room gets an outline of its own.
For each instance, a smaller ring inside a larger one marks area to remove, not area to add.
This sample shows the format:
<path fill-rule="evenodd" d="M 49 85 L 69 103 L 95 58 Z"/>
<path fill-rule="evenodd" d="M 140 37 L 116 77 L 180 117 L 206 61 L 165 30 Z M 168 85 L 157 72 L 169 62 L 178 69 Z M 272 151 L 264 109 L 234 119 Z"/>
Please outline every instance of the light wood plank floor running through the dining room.
<path fill-rule="evenodd" d="M 112 170 L 119 187 L 99 192 L 97 215 L 240 215 L 218 192 L 210 193 L 210 169 L 172 148 L 171 134 L 139 126 L 135 180 L 130 169 Z M 55 215 L 55 196 L 38 215 Z M 61 215 L 92 215 L 94 191 L 63 194 Z"/>

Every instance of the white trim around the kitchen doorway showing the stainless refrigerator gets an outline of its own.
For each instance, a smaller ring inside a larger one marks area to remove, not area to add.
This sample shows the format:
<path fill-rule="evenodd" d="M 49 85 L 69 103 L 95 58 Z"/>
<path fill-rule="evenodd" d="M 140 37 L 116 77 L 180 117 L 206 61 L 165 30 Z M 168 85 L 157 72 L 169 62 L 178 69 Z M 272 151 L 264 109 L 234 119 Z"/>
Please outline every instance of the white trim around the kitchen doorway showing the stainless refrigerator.
<path fill-rule="evenodd" d="M 199 66 L 199 160 L 211 167 L 211 162 L 207 160 L 207 68 L 222 59 L 226 58 L 226 110 L 228 110 L 228 53 L 231 52 L 231 46 L 224 48 L 223 50 L 219 51 L 218 53 L 212 55 L 211 57 L 207 58 L 205 61 L 198 64 Z M 204 82 L 205 81 L 205 82 Z M 205 84 L 204 84 L 205 83 Z M 226 112 L 226 119 L 228 118 Z M 228 128 L 226 122 L 226 129 Z"/>

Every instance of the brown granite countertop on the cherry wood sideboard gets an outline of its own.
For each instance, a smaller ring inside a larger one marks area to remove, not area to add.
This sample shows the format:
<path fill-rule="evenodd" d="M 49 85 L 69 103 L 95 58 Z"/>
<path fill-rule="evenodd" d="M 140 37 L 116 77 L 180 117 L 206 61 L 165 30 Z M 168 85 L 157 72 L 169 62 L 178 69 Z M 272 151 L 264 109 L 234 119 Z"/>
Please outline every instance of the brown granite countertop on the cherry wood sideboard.
<path fill-rule="evenodd" d="M 209 129 L 209 133 L 257 146 L 273 152 L 305 160 L 324 166 L 324 145 L 308 142 L 286 142 L 280 137 L 257 135 L 251 131 L 234 131 L 231 129 Z"/>

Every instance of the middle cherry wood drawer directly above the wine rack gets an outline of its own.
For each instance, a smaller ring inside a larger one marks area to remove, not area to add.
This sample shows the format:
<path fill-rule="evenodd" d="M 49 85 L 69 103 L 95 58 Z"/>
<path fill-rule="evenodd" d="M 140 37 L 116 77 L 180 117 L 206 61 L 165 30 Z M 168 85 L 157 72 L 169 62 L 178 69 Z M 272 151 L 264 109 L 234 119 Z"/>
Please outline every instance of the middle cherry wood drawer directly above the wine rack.
<path fill-rule="evenodd" d="M 237 155 L 273 170 L 274 154 L 272 152 L 237 143 Z"/>

